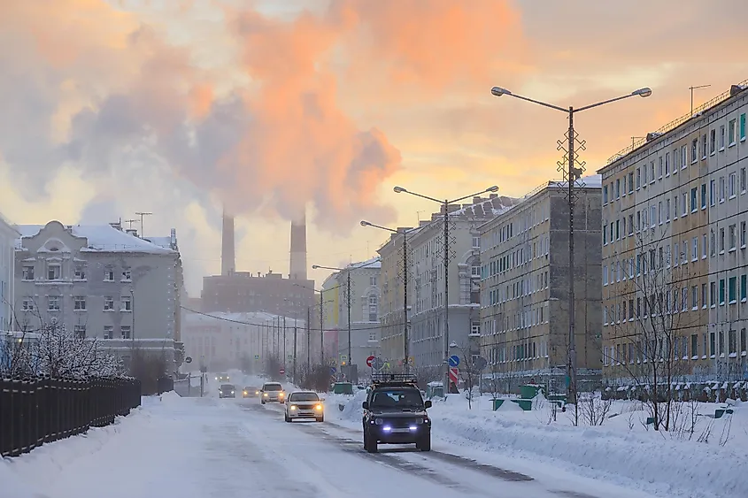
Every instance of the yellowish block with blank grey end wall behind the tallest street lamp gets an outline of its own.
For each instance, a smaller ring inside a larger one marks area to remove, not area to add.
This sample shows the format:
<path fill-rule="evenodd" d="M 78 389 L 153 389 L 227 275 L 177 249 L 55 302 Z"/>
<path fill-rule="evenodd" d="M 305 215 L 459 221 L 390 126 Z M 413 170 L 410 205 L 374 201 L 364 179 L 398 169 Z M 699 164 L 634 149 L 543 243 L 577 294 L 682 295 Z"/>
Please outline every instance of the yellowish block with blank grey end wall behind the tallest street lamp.
<path fill-rule="evenodd" d="M 601 349 L 600 180 L 574 203 L 574 346 L 578 373 L 598 376 Z M 490 372 L 563 377 L 569 337 L 567 184 L 550 181 L 481 226 L 482 356 Z M 561 387 L 562 388 L 562 387 Z"/>

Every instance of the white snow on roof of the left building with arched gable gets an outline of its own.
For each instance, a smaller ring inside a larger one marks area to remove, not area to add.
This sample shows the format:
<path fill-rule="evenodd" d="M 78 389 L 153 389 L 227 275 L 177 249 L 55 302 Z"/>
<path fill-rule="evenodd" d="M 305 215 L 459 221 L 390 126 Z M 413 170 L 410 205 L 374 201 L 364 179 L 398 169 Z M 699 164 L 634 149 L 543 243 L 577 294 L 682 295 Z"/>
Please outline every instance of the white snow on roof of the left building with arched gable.
<path fill-rule="evenodd" d="M 16 230 L 22 238 L 31 238 L 44 228 L 43 225 L 16 225 Z M 127 234 L 111 225 L 73 225 L 66 226 L 68 231 L 76 237 L 84 237 L 88 241 L 84 252 L 140 252 L 147 254 L 175 254 L 172 249 L 161 247 L 150 241 L 144 241 L 135 235 Z M 17 247 L 23 248 L 22 241 L 17 241 Z"/>

